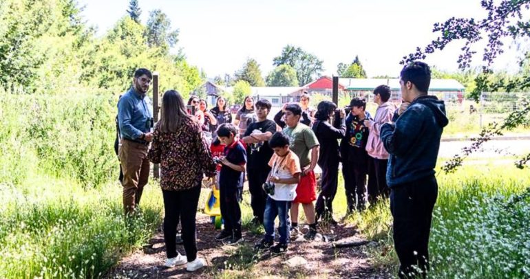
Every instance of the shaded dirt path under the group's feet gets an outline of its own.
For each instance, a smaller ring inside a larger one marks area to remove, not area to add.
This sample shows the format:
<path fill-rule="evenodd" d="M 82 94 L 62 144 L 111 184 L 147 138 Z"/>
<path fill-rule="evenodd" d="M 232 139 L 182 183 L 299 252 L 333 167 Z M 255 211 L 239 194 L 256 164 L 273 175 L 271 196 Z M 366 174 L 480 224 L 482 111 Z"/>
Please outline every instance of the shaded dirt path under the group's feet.
<path fill-rule="evenodd" d="M 209 216 L 198 214 L 198 254 L 205 258 L 208 267 L 189 273 L 185 265 L 166 268 L 165 245 L 162 232 L 158 232 L 144 247 L 120 261 L 107 278 L 390 278 L 385 271 L 370 267 L 370 260 L 363 252 L 365 247 L 334 248 L 330 242 L 304 241 L 298 238 L 289 245 L 285 254 L 266 258 L 252 247 L 260 235 L 250 230 L 244 234 L 242 245 L 222 245 L 213 238 L 218 231 L 210 223 Z M 321 227 L 324 235 L 332 240 L 361 241 L 353 227 Z M 184 253 L 182 246 L 177 247 Z M 286 262 L 291 263 L 287 265 Z"/>

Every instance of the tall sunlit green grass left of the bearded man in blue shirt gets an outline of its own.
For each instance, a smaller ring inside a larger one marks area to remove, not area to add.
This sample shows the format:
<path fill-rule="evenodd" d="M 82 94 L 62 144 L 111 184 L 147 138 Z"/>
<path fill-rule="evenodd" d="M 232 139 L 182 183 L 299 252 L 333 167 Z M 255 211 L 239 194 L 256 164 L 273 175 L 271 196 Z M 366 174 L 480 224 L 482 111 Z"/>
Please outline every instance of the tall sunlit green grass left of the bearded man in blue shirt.
<path fill-rule="evenodd" d="M 112 97 L 0 98 L 0 278 L 97 278 L 147 241 L 160 190 L 123 218 Z"/>

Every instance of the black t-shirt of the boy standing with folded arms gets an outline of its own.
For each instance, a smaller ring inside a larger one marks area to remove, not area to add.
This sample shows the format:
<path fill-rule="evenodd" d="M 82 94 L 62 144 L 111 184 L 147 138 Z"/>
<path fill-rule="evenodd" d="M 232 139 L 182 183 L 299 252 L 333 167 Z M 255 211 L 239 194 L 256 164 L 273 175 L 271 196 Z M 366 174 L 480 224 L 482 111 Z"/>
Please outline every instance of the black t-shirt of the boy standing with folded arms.
<path fill-rule="evenodd" d="M 276 123 L 273 120 L 264 120 L 262 122 L 252 122 L 246 127 L 245 137 L 251 135 L 253 131 L 258 130 L 262 133 L 276 132 Z M 246 155 L 248 157 L 248 163 L 246 168 L 250 169 L 267 169 L 268 161 L 273 156 L 274 151 L 268 147 L 268 142 L 258 142 L 256 144 L 246 144 Z M 264 170 L 266 171 L 266 170 Z"/>

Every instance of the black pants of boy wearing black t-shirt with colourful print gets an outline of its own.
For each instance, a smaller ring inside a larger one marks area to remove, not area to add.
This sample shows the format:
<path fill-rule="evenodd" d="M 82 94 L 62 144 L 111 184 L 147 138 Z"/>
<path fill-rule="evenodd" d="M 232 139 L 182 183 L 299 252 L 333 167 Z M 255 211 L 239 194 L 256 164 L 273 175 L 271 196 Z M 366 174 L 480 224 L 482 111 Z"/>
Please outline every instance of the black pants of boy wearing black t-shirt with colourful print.
<path fill-rule="evenodd" d="M 357 209 L 361 210 L 365 204 L 366 171 L 355 168 L 354 164 L 350 161 L 343 161 L 342 175 L 344 177 L 344 190 L 346 190 L 348 212 L 353 212 L 356 206 Z"/>

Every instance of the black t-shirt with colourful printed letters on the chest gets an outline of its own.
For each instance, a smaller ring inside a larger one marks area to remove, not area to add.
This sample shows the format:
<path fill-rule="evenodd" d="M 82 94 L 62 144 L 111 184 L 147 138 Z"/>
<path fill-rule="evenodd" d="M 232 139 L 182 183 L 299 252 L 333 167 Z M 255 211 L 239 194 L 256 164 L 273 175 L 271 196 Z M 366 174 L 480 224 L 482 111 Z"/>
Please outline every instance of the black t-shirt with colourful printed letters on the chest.
<path fill-rule="evenodd" d="M 370 120 L 367 113 L 365 120 Z M 353 164 L 354 168 L 366 170 L 368 164 L 368 153 L 366 153 L 366 142 L 370 130 L 364 125 L 365 120 L 348 115 L 346 118 L 346 137 L 341 142 L 341 155 L 344 160 Z"/>

